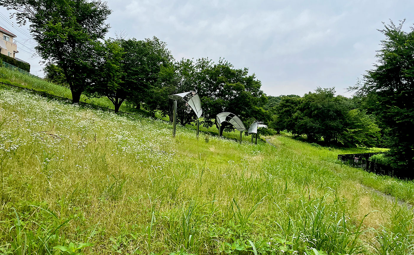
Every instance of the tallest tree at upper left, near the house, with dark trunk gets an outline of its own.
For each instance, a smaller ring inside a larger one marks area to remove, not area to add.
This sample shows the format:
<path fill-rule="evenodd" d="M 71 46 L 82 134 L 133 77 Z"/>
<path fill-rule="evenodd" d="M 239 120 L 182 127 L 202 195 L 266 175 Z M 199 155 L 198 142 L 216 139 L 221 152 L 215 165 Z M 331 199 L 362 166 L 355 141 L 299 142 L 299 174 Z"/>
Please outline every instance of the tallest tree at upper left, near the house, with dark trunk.
<path fill-rule="evenodd" d="M 99 0 L 0 0 L 0 5 L 14 10 L 19 24 L 29 21 L 29 30 L 38 43 L 36 52 L 63 69 L 79 102 L 91 84 L 96 43 L 108 31 L 105 20 L 111 13 Z"/>

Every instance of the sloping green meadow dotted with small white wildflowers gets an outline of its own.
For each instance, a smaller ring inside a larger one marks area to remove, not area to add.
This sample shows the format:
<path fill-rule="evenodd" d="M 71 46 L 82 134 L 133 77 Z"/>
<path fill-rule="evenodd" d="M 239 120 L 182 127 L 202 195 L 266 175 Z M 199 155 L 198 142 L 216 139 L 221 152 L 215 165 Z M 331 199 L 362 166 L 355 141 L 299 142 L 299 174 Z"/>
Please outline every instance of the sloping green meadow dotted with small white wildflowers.
<path fill-rule="evenodd" d="M 365 149 L 172 138 L 7 88 L 0 124 L 0 254 L 414 253 L 413 211 L 361 185 L 414 203 L 414 183 L 336 160 Z"/>

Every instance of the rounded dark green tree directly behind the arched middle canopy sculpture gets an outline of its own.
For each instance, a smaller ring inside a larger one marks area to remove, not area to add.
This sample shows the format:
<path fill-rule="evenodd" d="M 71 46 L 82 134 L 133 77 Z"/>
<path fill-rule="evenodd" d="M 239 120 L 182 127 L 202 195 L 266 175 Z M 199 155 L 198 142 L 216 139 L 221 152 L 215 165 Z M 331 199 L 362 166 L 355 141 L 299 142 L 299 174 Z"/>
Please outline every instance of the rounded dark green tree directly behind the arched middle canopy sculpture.
<path fill-rule="evenodd" d="M 248 74 L 247 68 L 236 69 L 224 60 L 217 64 L 199 60 L 197 65 L 204 66 L 198 74 L 197 86 L 200 88 L 202 123 L 205 126 L 212 126 L 219 112 L 238 115 L 246 127 L 255 120 L 267 122 L 270 119 L 269 113 L 263 109 L 267 97 L 260 90 L 262 84 L 255 74 Z"/>

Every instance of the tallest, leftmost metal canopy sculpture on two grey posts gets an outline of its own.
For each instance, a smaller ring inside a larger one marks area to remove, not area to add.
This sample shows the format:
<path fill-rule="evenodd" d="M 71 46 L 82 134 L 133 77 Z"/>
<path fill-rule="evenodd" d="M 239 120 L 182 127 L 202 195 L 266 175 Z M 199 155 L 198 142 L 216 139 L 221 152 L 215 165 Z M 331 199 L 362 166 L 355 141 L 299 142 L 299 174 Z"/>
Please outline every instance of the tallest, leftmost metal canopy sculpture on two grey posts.
<path fill-rule="evenodd" d="M 201 109 L 201 102 L 200 97 L 195 91 L 190 92 L 184 92 L 174 95 L 169 95 L 168 98 L 171 98 L 174 100 L 173 106 L 174 106 L 174 112 L 173 112 L 173 137 L 176 136 L 176 119 L 177 119 L 177 100 L 183 99 L 187 105 L 193 109 L 195 112 L 195 115 L 197 116 L 197 138 L 198 133 L 200 131 L 200 117 L 203 113 L 203 110 Z"/>

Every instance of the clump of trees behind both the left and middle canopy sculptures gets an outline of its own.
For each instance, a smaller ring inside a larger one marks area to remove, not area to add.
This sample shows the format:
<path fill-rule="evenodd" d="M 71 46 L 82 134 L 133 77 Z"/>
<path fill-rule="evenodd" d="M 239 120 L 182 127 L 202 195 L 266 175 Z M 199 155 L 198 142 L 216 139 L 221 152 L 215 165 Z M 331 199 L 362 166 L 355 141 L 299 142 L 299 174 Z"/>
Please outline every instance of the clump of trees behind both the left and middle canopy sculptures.
<path fill-rule="evenodd" d="M 159 74 L 157 110 L 172 117 L 172 100 L 168 95 L 196 91 L 202 103 L 202 124 L 214 125 L 216 114 L 232 112 L 238 115 L 248 127 L 255 120 L 267 121 L 269 113 L 262 107 L 267 97 L 260 90 L 261 83 L 248 69 L 236 69 L 227 61 L 212 62 L 208 58 L 196 61 L 182 59 L 170 67 L 164 67 Z M 181 124 L 195 120 L 195 114 L 183 101 L 178 102 L 177 119 Z M 231 126 L 227 127 L 232 129 Z M 223 130 L 223 129 L 221 129 Z"/>

